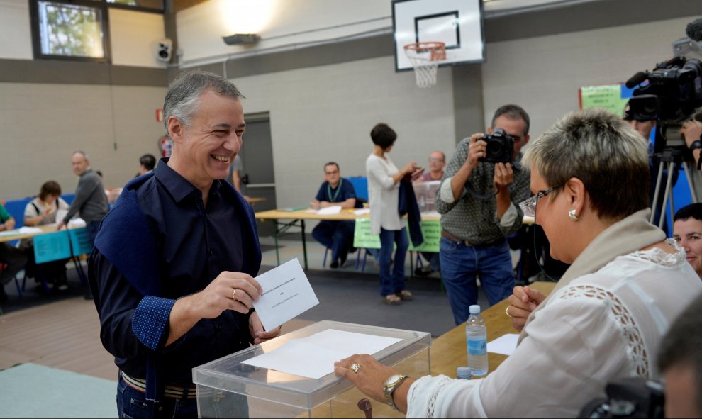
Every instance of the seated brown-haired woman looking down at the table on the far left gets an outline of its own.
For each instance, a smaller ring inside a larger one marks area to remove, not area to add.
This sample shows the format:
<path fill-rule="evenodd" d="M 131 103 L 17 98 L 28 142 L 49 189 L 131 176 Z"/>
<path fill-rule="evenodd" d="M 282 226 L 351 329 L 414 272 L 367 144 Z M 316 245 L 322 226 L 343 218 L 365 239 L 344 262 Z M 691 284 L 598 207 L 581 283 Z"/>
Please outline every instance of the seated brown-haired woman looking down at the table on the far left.
<path fill-rule="evenodd" d="M 69 205 L 61 198 L 61 186 L 55 181 L 48 181 L 41 186 L 39 196 L 24 208 L 24 225 L 37 226 L 56 223 L 57 210 L 68 211 Z M 46 262 L 38 267 L 34 259 L 34 244 L 32 239 L 23 239 L 19 245 L 27 255 L 25 272 L 30 278 L 35 277 L 39 282 L 39 275 L 44 275 L 48 284 L 54 289 L 65 291 L 68 289 L 66 280 L 66 262 L 68 259 Z M 41 289 L 41 288 L 40 288 Z"/>

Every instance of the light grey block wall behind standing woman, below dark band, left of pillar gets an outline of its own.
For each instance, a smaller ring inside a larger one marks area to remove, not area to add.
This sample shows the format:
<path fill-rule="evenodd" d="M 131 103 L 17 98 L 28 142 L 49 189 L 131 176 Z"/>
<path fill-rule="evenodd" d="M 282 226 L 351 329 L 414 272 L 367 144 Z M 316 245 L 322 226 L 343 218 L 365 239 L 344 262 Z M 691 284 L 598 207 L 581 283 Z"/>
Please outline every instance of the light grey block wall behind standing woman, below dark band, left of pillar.
<path fill-rule="evenodd" d="M 270 112 L 279 207 L 309 203 L 329 160 L 339 163 L 343 176 L 365 176 L 376 123 L 396 130 L 390 156 L 399 167 L 410 161 L 426 166 L 432 150 L 450 152 L 455 145 L 450 69 L 440 69 L 433 89 L 416 87 L 412 73 L 396 74 L 393 57 L 233 82 L 247 97 L 245 113 Z M 246 141 L 244 135 L 243 150 Z"/>

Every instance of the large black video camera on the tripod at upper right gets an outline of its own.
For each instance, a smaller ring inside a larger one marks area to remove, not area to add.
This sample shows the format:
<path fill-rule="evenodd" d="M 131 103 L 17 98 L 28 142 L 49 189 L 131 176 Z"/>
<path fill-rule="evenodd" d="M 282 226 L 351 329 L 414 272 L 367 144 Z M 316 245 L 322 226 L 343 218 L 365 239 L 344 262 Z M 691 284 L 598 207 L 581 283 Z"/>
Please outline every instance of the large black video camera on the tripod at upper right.
<path fill-rule="evenodd" d="M 701 56 L 700 29 L 702 19 L 688 25 L 689 38 L 673 43 L 676 57 L 659 62 L 652 72 L 637 72 L 626 86 L 634 90 L 625 119 L 657 121 L 655 152 L 678 149 L 692 160 L 680 135 L 682 123 L 692 118 L 702 107 L 702 62 L 690 56 Z M 701 116 L 698 116 L 698 118 Z"/>

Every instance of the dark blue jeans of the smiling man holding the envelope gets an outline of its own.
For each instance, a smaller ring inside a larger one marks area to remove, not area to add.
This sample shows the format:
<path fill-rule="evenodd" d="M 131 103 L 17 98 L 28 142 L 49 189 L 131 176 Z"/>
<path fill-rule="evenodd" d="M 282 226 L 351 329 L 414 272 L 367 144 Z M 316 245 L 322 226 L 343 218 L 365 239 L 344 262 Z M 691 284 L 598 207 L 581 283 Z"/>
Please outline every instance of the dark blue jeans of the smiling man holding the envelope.
<path fill-rule="evenodd" d="M 211 398 L 204 397 L 201 415 L 204 418 L 248 418 L 249 410 L 245 396 L 235 393 L 218 392 Z M 119 377 L 117 381 L 117 415 L 118 418 L 197 418 L 198 407 L 196 398 L 162 399 L 161 410 L 152 415 L 146 402 L 146 395 L 128 386 Z"/>

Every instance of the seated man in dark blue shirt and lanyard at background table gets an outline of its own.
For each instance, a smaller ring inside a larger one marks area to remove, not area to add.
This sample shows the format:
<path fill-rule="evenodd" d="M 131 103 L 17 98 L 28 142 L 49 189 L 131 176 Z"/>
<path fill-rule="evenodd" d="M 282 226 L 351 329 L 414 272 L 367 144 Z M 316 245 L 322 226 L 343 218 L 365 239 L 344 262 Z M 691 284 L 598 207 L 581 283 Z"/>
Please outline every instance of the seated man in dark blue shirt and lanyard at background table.
<path fill-rule="evenodd" d="M 328 206 L 341 206 L 343 209 L 351 209 L 356 206 L 356 191 L 353 189 L 351 181 L 341 177 L 339 165 L 335 162 L 328 162 L 324 165 L 324 183 L 319 187 L 317 196 L 312 201 L 314 209 Z M 353 221 L 320 221 L 313 228 L 312 237 L 332 250 L 330 267 L 344 266 L 353 244 L 354 228 Z"/>

